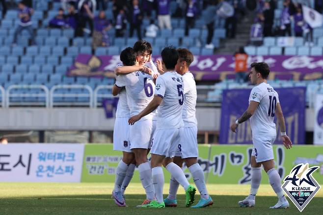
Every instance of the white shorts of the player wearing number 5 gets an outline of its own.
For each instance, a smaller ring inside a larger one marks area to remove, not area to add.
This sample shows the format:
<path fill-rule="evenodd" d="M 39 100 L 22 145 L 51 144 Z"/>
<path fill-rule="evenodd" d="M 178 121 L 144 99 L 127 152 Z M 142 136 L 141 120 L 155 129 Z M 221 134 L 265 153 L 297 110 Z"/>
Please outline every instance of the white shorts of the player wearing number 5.
<path fill-rule="evenodd" d="M 156 129 L 150 153 L 173 158 L 181 139 L 182 132 L 183 128 Z"/>

